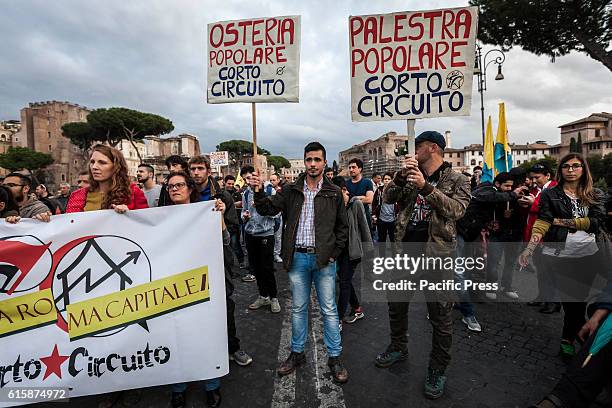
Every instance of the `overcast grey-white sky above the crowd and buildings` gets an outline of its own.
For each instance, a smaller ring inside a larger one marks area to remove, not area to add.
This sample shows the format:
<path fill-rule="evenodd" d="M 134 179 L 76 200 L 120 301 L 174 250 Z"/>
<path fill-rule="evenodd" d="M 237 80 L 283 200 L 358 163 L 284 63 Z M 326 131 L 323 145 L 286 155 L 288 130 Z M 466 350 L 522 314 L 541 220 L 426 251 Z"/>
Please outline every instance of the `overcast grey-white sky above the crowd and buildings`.
<path fill-rule="evenodd" d="M 89 108 L 123 106 L 172 120 L 173 134 L 200 138 L 202 151 L 251 137 L 248 104 L 206 103 L 206 25 L 219 20 L 301 15 L 300 102 L 259 104 L 258 142 L 273 154 L 301 157 L 318 140 L 331 158 L 405 121 L 350 119 L 348 16 L 449 6 L 465 1 L 9 1 L 0 0 L 0 120 L 19 119 L 29 102 L 67 100 Z M 330 4 L 332 5 L 330 7 Z M 485 46 L 485 51 L 491 47 Z M 585 54 L 554 64 L 513 49 L 503 81 L 489 67 L 485 109 L 506 103 L 510 141 L 559 141 L 559 125 L 612 112 L 612 73 Z M 476 81 L 474 81 L 474 87 Z M 452 131 L 453 147 L 478 143 L 480 100 L 472 115 L 424 119 L 423 130 Z"/>

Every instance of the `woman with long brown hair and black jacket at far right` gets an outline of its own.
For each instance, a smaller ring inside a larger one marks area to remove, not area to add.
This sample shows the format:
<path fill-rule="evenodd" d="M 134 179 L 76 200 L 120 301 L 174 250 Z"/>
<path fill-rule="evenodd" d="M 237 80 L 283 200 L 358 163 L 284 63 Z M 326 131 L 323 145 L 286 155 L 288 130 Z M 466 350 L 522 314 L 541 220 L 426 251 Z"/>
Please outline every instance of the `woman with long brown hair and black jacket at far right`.
<path fill-rule="evenodd" d="M 538 219 L 529 244 L 519 257 L 525 267 L 543 242 L 542 267 L 555 274 L 564 310 L 561 357 L 575 354 L 574 342 L 585 323 L 586 297 L 598 272 L 605 268 L 604 194 L 593 188 L 582 155 L 570 153 L 559 161 L 557 185 L 542 191 Z M 550 299 L 544 299 L 549 301 Z"/>

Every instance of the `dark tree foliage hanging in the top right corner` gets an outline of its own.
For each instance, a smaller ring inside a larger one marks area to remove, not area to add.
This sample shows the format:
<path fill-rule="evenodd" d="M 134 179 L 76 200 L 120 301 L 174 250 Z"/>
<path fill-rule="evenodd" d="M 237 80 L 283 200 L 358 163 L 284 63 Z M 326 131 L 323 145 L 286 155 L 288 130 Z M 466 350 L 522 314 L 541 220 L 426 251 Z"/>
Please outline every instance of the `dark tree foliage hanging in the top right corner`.
<path fill-rule="evenodd" d="M 571 51 L 612 71 L 610 0 L 470 0 L 478 6 L 478 38 L 505 51 L 520 46 L 552 61 Z"/>

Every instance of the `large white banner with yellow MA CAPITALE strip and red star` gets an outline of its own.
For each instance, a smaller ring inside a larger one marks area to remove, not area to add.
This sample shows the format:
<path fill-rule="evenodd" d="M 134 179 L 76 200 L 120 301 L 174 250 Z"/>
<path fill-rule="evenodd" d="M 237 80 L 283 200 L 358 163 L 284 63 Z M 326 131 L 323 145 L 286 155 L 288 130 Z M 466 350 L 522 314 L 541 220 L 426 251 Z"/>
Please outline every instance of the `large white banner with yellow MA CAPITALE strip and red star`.
<path fill-rule="evenodd" d="M 213 206 L 0 220 L 0 406 L 31 402 L 16 387 L 70 388 L 58 398 L 227 374 Z"/>

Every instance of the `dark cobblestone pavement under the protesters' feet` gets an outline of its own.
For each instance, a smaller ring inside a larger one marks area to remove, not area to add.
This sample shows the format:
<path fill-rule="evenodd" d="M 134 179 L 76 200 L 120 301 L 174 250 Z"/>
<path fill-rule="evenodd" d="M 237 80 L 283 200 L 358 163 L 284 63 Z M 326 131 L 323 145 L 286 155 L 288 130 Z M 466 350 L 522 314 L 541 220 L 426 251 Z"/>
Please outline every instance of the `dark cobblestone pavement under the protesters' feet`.
<path fill-rule="evenodd" d="M 247 305 L 257 294 L 256 284 L 236 282 L 238 336 L 254 363 L 249 367 L 231 364 L 230 374 L 222 380 L 222 406 L 527 407 L 548 393 L 563 371 L 557 357 L 560 314 L 543 315 L 522 303 L 476 304 L 483 332 L 469 333 L 460 313 L 454 311 L 453 361 L 447 371 L 446 393 L 437 401 L 427 400 L 422 392 L 431 343 L 426 305 L 411 306 L 409 361 L 379 369 L 374 366 L 374 358 L 388 344 L 387 307 L 366 303 L 365 319 L 345 324 L 342 332 L 343 360 L 351 375 L 347 384 L 339 387 L 330 380 L 321 318 L 316 310 L 311 312 L 314 324 L 306 350 L 308 363 L 296 375 L 279 379 L 276 367 L 279 358 L 287 355 L 290 341 L 290 292 L 286 274 L 279 267 L 277 278 L 283 306 L 280 314 L 248 310 Z M 280 350 L 279 345 L 283 345 Z M 190 386 L 187 398 L 190 407 L 205 406 L 199 384 Z M 92 407 L 101 399 L 82 397 L 73 399 L 70 405 Z M 115 406 L 165 407 L 169 400 L 168 386 L 155 387 L 141 393 L 125 392 Z"/>

